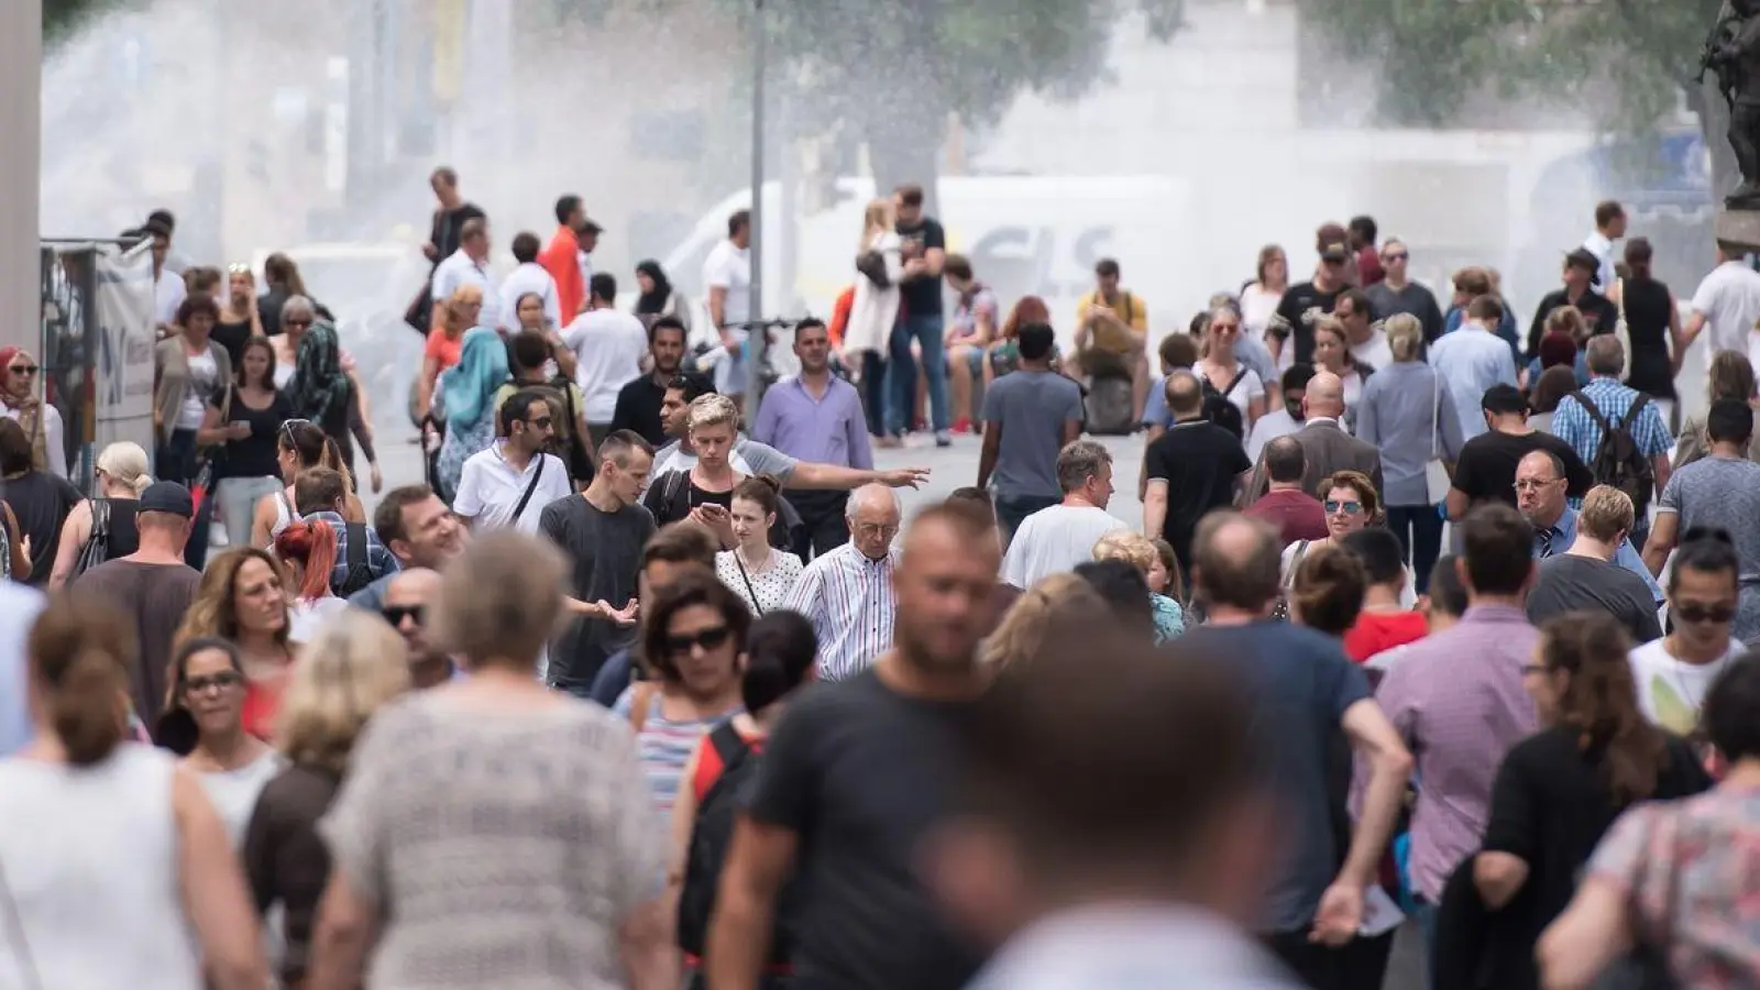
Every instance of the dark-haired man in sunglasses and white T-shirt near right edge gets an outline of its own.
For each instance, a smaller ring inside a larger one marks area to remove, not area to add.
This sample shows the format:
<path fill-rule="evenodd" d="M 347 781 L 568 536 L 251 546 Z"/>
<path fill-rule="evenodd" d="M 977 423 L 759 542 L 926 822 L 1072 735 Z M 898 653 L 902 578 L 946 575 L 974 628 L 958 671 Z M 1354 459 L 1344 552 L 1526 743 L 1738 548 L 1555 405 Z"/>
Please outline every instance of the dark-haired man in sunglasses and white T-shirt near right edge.
<path fill-rule="evenodd" d="M 1632 650 L 1639 708 L 1670 733 L 1698 731 L 1711 683 L 1742 654 L 1742 643 L 1730 634 L 1739 574 L 1741 560 L 1727 532 L 1688 530 L 1668 571 L 1674 631 Z"/>

